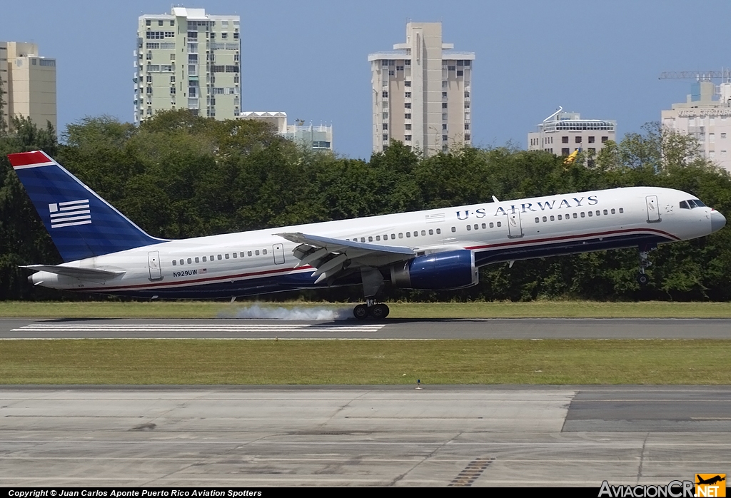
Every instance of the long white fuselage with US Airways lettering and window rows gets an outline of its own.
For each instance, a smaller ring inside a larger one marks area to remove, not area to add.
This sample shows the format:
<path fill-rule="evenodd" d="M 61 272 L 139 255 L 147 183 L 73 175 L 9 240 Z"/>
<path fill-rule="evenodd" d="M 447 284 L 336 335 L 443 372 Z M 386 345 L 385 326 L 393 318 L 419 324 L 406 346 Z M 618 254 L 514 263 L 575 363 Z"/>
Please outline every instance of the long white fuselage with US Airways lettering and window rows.
<path fill-rule="evenodd" d="M 633 187 L 328 221 L 172 240 L 61 266 L 124 272 L 98 281 L 38 272 L 52 288 L 148 297 L 223 297 L 310 288 L 297 244 L 278 233 L 404 246 L 417 254 L 474 251 L 475 264 L 689 240 L 710 234 L 709 207 L 682 191 Z M 325 284 L 323 284 L 325 285 Z"/>

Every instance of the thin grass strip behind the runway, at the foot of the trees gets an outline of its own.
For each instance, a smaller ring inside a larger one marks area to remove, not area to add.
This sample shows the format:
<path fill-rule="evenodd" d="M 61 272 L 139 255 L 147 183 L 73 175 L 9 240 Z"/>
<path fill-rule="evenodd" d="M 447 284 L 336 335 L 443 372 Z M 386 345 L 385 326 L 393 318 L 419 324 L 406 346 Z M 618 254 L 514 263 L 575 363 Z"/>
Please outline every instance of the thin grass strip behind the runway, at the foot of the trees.
<path fill-rule="evenodd" d="M 322 302 L 0 302 L 0 318 L 232 318 L 262 307 L 352 308 Z M 731 318 L 727 302 L 434 302 L 389 303 L 389 318 Z"/>

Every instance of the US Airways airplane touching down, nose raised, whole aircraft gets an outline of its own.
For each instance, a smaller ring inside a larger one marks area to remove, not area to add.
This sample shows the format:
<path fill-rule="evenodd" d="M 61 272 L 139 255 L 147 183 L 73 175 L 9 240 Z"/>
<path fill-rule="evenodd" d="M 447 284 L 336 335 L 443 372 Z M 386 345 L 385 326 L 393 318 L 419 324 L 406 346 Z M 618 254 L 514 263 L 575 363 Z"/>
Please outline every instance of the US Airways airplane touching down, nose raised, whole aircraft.
<path fill-rule="evenodd" d="M 46 153 L 10 164 L 63 264 L 31 264 L 37 286 L 147 299 L 250 296 L 360 285 L 358 319 L 385 318 L 397 288 L 456 289 L 487 264 L 637 248 L 645 284 L 658 244 L 703 237 L 726 218 L 692 194 L 629 187 L 444 207 L 184 240 L 145 233 Z"/>

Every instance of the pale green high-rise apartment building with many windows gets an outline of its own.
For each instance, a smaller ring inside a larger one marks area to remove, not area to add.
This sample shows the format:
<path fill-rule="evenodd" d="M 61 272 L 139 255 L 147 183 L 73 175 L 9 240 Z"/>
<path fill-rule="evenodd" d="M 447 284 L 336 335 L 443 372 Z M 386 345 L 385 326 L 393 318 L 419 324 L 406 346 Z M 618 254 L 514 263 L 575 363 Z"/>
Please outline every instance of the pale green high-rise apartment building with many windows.
<path fill-rule="evenodd" d="M 173 7 L 141 15 L 135 50 L 135 123 L 161 110 L 190 109 L 219 120 L 240 112 L 238 15 Z"/>

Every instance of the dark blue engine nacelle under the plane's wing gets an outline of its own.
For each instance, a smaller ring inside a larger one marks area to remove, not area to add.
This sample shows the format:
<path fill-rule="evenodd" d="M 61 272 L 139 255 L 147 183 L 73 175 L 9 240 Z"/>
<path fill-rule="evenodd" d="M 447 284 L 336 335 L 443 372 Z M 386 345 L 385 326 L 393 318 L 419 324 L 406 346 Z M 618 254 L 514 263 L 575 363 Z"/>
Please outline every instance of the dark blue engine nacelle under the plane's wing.
<path fill-rule="evenodd" d="M 479 279 L 474 253 L 466 249 L 417 256 L 391 267 L 391 283 L 400 288 L 463 288 L 477 285 Z"/>

